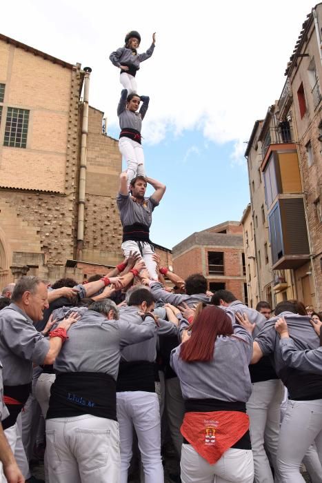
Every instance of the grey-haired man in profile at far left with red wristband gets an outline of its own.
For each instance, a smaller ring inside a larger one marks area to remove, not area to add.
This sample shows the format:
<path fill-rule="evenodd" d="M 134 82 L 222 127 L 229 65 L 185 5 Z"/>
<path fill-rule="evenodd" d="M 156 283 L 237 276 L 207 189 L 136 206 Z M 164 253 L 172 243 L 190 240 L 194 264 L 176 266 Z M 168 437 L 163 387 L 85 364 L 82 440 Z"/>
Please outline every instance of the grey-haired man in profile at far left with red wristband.
<path fill-rule="evenodd" d="M 77 317 L 64 319 L 50 339 L 34 328 L 48 307 L 47 287 L 39 277 L 21 277 L 11 297 L 11 304 L 0 312 L 0 359 L 3 364 L 3 393 L 9 415 L 3 420 L 6 437 L 14 452 L 17 417 L 28 400 L 32 382 L 32 363 L 52 364 L 66 340 L 66 331 Z M 30 477 L 28 464 L 22 469 Z M 6 481 L 6 480 L 4 480 Z"/>

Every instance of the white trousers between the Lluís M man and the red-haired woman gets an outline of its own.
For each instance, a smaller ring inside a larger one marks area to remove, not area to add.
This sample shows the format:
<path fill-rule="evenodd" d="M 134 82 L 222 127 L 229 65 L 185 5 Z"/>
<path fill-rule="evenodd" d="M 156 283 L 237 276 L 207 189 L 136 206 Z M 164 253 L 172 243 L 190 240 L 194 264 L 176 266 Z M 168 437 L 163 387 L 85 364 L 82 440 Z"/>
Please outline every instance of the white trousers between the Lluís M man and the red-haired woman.
<path fill-rule="evenodd" d="M 117 420 L 121 444 L 121 483 L 128 482 L 133 426 L 137 433 L 145 483 L 163 483 L 160 409 L 157 394 L 145 391 L 117 393 Z"/>

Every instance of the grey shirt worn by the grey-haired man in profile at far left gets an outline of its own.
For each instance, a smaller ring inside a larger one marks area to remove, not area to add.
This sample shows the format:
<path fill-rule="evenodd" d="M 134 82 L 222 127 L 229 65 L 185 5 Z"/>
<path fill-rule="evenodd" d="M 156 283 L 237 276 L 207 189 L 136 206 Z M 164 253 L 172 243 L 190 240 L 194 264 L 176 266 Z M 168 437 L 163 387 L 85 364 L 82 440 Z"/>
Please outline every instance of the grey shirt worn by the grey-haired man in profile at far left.
<path fill-rule="evenodd" d="M 32 319 L 16 304 L 0 311 L 0 359 L 3 384 L 20 386 L 32 380 L 32 362 L 43 364 L 49 341 L 34 328 Z"/>

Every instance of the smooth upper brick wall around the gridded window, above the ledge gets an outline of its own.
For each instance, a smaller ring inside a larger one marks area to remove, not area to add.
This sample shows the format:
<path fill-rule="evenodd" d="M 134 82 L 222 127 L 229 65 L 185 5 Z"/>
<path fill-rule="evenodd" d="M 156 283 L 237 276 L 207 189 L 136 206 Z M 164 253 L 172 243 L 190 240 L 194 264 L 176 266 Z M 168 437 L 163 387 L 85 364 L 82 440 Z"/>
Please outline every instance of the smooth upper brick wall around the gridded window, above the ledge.
<path fill-rule="evenodd" d="M 26 148 L 3 146 L 6 122 L 1 123 L 0 184 L 64 193 L 68 145 L 74 144 L 77 151 L 77 139 L 70 139 L 70 121 L 77 119 L 73 109 L 75 99 L 78 103 L 79 70 L 63 68 L 10 43 L 0 41 L 0 45 L 0 81 L 6 84 L 3 120 L 7 107 L 30 110 Z"/>

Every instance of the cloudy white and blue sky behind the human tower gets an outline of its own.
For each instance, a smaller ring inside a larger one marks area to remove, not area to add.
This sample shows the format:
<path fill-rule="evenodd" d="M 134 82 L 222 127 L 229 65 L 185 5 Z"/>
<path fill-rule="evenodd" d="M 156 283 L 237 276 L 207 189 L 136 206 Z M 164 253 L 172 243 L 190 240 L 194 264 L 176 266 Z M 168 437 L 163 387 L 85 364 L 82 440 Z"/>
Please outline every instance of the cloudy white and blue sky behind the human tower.
<path fill-rule="evenodd" d="M 126 32 L 140 32 L 140 52 L 157 32 L 137 83 L 139 94 L 150 96 L 146 173 L 167 185 L 151 239 L 172 248 L 196 231 L 241 219 L 249 202 L 247 141 L 281 95 L 313 7 L 310 0 L 16 0 L 1 6 L 0 32 L 90 66 L 90 105 L 105 112 L 116 138 L 121 84 L 108 57 Z"/>

